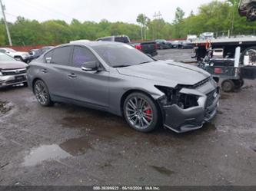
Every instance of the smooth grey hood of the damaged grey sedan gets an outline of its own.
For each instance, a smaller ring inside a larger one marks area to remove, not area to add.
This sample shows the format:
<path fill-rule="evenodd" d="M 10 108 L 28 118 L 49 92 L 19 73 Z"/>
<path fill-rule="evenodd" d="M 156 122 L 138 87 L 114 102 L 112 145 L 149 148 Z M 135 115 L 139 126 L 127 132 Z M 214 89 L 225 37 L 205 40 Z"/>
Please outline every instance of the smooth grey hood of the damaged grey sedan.
<path fill-rule="evenodd" d="M 119 74 L 141 77 L 167 84 L 194 85 L 209 77 L 208 72 L 175 61 L 154 61 L 147 64 L 117 68 Z"/>

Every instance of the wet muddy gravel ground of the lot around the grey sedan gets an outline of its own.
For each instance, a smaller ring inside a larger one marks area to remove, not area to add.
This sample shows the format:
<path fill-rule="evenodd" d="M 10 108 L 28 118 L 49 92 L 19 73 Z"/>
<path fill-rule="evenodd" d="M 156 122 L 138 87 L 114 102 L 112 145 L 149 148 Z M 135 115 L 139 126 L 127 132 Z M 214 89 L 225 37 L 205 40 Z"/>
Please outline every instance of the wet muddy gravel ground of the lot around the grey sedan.
<path fill-rule="evenodd" d="M 158 58 L 190 56 L 168 50 Z M 68 104 L 41 107 L 28 88 L 5 88 L 0 185 L 256 185 L 255 94 L 255 81 L 221 93 L 211 123 L 177 134 L 138 133 L 121 117 Z"/>

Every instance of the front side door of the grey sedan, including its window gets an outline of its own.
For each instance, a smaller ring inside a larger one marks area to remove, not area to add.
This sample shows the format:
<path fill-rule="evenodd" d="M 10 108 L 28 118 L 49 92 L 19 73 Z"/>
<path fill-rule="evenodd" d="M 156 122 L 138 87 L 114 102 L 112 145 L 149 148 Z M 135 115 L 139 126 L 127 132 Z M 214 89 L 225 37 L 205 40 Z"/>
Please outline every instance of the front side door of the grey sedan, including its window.
<path fill-rule="evenodd" d="M 105 71 L 102 66 L 101 71 L 83 71 L 81 69 L 85 62 L 98 61 L 95 54 L 84 46 L 74 46 L 71 60 L 74 66 L 72 73 L 76 76 L 71 86 L 74 98 L 91 107 L 107 109 L 109 72 Z"/>

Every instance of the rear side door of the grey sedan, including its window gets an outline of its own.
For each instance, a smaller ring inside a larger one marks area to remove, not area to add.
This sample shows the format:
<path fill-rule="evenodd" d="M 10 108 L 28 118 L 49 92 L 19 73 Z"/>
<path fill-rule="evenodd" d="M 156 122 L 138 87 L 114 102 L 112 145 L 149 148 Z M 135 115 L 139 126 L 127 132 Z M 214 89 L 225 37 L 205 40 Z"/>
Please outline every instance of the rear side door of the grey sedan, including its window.
<path fill-rule="evenodd" d="M 72 81 L 75 75 L 72 74 L 71 52 L 72 45 L 62 46 L 45 54 L 45 65 L 40 72 L 46 82 L 52 97 L 72 98 Z"/>

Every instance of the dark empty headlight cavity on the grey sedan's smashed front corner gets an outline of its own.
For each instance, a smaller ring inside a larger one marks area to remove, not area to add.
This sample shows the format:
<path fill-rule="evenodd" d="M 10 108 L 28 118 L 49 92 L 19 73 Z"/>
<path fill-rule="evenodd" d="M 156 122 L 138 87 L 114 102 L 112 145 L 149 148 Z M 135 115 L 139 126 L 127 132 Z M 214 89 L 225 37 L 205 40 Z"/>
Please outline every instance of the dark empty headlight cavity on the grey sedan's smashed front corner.
<path fill-rule="evenodd" d="M 161 104 L 168 106 L 176 104 L 181 109 L 187 109 L 190 107 L 198 106 L 198 96 L 193 94 L 182 94 L 180 89 L 164 86 L 155 86 L 159 91 L 165 93 L 164 97 L 159 100 Z"/>

